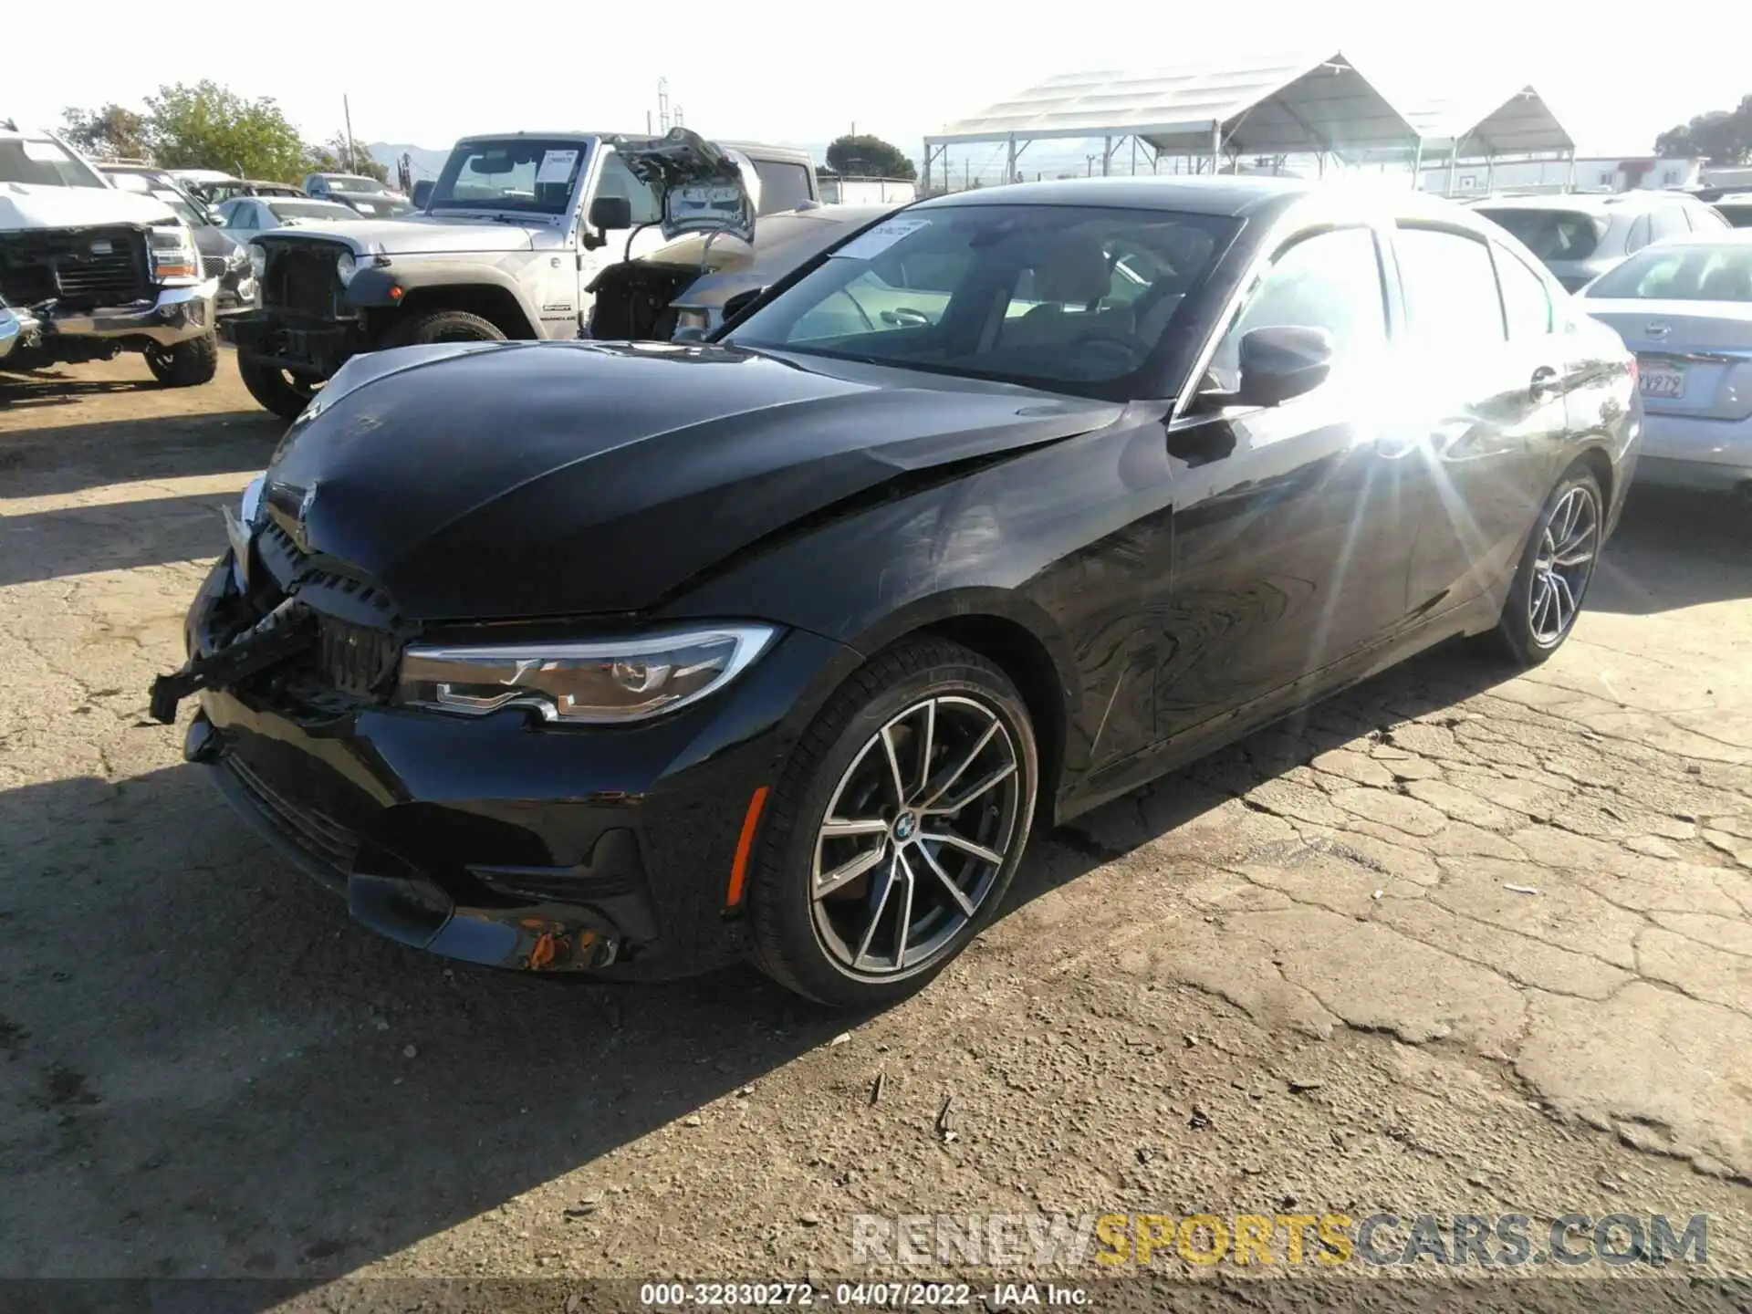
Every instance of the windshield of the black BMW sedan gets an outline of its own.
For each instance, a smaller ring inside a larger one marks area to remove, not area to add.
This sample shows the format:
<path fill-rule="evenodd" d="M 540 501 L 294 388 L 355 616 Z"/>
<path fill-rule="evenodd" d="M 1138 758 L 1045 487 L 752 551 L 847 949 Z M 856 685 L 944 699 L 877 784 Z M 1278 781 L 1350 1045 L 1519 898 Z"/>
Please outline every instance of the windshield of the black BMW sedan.
<path fill-rule="evenodd" d="M 1107 394 L 1162 340 L 1235 221 L 944 205 L 865 230 L 729 342 Z"/>

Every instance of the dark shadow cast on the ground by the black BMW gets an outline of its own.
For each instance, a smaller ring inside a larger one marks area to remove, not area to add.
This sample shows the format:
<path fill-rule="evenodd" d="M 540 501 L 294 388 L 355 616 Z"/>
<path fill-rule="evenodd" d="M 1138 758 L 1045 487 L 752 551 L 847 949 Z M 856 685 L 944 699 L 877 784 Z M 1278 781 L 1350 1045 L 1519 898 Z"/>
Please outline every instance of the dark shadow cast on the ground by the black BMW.
<path fill-rule="evenodd" d="M 1426 655 L 1109 809 L 1148 843 L 1507 675 Z M 1006 913 L 1113 857 L 1097 832 L 1102 813 L 1037 836 Z M 200 767 L 0 794 L 0 1274 L 345 1274 L 860 1021 L 752 969 L 618 986 L 391 944 Z"/>

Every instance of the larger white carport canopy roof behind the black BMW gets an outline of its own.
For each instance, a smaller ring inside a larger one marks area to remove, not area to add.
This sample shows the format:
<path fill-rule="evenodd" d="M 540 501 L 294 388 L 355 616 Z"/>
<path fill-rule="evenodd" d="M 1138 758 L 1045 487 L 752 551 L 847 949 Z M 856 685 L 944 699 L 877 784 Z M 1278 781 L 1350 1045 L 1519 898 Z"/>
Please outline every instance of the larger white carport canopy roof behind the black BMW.
<path fill-rule="evenodd" d="M 1412 151 L 1416 128 L 1342 54 L 1260 56 L 1177 68 L 1065 74 L 925 138 L 1035 142 L 1139 137 L 1163 154 Z"/>

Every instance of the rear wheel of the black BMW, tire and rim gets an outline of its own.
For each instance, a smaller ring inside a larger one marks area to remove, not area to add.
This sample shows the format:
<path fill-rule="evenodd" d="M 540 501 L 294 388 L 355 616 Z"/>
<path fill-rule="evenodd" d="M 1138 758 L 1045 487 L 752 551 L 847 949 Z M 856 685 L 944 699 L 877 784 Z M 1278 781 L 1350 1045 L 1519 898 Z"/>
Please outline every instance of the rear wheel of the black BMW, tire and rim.
<path fill-rule="evenodd" d="M 1572 508 L 1580 519 L 1568 519 Z M 1517 666 L 1538 666 L 1570 638 L 1587 601 L 1605 524 L 1600 480 L 1587 466 L 1570 466 L 1540 506 L 1496 622 L 1496 646 Z M 1586 561 L 1575 561 L 1584 550 Z M 1575 564 L 1561 566 L 1561 561 Z"/>

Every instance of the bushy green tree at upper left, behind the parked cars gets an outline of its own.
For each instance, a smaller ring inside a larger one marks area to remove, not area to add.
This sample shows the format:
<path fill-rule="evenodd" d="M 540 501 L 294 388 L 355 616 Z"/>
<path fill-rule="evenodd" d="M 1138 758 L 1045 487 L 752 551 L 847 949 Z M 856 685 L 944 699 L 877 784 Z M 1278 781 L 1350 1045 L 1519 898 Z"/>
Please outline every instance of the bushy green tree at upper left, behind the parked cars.
<path fill-rule="evenodd" d="M 272 96 L 245 100 L 217 82 L 177 82 L 145 107 L 152 156 L 165 168 L 223 168 L 282 182 L 303 175 L 305 145 Z"/>

